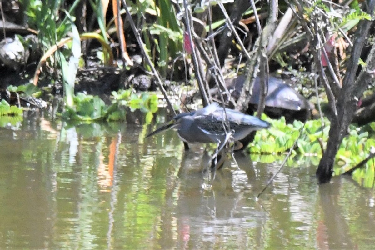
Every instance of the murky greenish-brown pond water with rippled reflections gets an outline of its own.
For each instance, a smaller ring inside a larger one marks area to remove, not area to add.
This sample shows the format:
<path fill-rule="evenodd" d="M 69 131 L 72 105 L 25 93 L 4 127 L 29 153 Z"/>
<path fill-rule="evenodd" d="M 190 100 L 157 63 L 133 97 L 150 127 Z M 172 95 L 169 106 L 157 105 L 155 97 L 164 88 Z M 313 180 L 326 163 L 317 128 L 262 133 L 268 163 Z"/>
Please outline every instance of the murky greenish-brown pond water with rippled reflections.
<path fill-rule="evenodd" d="M 305 164 L 257 201 L 277 164 L 237 154 L 211 181 L 203 149 L 143 119 L 1 129 L 0 249 L 374 249 L 373 190 Z"/>

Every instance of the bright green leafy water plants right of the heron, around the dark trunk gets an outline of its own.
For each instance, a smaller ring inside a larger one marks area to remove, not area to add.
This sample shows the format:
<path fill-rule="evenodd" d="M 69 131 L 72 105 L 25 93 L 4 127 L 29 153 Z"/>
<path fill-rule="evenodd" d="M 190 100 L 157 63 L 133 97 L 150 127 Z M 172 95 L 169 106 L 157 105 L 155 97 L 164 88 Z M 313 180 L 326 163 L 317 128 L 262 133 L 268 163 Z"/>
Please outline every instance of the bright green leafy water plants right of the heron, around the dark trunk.
<path fill-rule="evenodd" d="M 301 121 L 287 124 L 284 117 L 273 120 L 264 115 L 262 118 L 271 123 L 272 126 L 268 130 L 257 132 L 254 141 L 249 145 L 250 153 L 269 155 L 267 162 L 272 161 L 270 158 L 277 160 L 279 159 L 278 155 L 288 151 L 298 138 L 291 159 L 295 157 L 322 157 L 322 152 L 325 150 L 329 138 L 330 122 L 328 118 L 307 121 L 300 137 L 300 129 L 303 126 Z M 336 154 L 334 175 L 343 174 L 369 155 L 370 148 L 375 147 L 375 130 L 373 127 L 375 127 L 375 123 L 364 127 L 350 125 L 350 131 L 344 137 Z M 272 157 L 272 155 L 275 157 Z M 365 168 L 354 171 L 353 178 L 359 183 L 363 182 L 363 185 L 367 183 L 369 187 L 372 187 L 374 169 L 374 161 L 369 160 Z"/>

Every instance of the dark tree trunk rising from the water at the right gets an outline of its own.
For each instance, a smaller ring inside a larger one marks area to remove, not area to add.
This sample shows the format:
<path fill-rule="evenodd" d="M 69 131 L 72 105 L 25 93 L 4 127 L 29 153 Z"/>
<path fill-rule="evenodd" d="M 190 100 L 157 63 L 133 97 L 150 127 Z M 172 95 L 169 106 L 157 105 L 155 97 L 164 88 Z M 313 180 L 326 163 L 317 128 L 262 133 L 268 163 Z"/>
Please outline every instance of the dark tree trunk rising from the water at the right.
<path fill-rule="evenodd" d="M 375 0 L 369 0 L 367 6 L 367 13 L 373 16 Z M 362 72 L 356 80 L 355 77 L 360 54 L 373 22 L 374 21 L 363 20 L 358 25 L 352 54 L 347 65 L 347 73 L 337 101 L 337 117 L 333 117 L 331 120 L 327 149 L 320 160 L 316 173 L 319 183 L 327 183 L 331 180 L 335 156 L 339 145 L 344 136 L 348 133 L 348 127 L 353 120 L 359 98 L 362 97 L 363 91 L 365 91 L 368 84 L 372 81 L 374 72 L 371 72 L 371 70 L 375 68 L 375 45 L 372 47 L 368 60 L 366 61 L 366 69 L 362 69 Z"/>

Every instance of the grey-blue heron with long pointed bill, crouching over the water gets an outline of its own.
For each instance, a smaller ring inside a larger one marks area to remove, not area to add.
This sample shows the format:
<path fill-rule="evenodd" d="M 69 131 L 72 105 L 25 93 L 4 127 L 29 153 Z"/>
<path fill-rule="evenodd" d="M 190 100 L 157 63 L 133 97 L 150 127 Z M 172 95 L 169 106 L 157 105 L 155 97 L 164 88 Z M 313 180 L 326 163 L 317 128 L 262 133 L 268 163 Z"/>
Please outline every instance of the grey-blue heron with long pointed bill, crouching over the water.
<path fill-rule="evenodd" d="M 188 143 L 216 143 L 217 151 L 222 151 L 228 142 L 239 141 L 255 130 L 268 127 L 270 124 L 267 121 L 234 109 L 222 108 L 214 102 L 197 111 L 176 115 L 146 138 L 175 128 L 186 150 L 189 149 Z"/>

